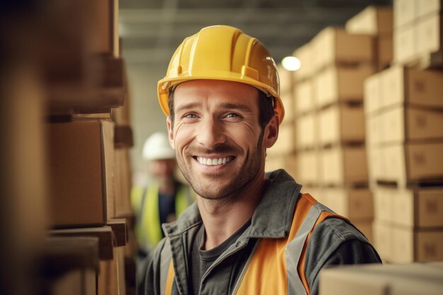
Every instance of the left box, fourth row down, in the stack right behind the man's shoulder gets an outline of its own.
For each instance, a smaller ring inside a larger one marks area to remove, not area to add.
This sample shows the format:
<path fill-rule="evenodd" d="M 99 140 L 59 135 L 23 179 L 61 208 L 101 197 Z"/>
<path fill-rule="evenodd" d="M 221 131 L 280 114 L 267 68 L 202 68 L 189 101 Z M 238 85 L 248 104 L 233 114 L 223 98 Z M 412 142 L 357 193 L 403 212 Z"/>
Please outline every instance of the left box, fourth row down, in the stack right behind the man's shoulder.
<path fill-rule="evenodd" d="M 298 183 L 302 185 L 316 185 L 320 177 L 318 151 L 303 151 L 297 154 Z"/>

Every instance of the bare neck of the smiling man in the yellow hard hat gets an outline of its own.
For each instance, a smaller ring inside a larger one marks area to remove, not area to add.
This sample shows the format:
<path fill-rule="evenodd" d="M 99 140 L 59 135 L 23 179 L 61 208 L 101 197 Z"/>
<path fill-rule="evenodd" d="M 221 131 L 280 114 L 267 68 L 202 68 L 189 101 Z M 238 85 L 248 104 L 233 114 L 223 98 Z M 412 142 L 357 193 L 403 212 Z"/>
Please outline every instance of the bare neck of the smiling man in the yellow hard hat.
<path fill-rule="evenodd" d="M 229 198 L 229 201 L 197 196 L 197 204 L 206 231 L 205 250 L 223 243 L 251 219 L 267 183 L 269 180 L 263 178 L 263 181 L 249 187 L 247 192 L 236 198 Z"/>

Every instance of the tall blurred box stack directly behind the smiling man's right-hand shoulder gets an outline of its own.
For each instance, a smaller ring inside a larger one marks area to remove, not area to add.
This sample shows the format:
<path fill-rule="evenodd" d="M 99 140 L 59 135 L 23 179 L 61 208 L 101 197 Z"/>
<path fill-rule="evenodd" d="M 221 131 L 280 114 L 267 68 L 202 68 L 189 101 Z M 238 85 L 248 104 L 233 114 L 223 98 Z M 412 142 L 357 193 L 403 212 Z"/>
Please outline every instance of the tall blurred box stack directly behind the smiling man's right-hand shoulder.
<path fill-rule="evenodd" d="M 297 180 L 371 238 L 362 101 L 363 81 L 375 71 L 374 38 L 325 28 L 294 55 Z"/>

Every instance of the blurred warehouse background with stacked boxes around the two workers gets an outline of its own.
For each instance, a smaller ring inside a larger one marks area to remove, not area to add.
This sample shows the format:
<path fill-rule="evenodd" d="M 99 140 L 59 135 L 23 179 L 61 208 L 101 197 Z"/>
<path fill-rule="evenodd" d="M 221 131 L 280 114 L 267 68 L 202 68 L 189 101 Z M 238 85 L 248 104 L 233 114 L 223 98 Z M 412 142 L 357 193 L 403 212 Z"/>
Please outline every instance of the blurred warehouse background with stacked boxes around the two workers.
<path fill-rule="evenodd" d="M 156 83 L 184 37 L 217 24 L 279 66 L 266 170 L 386 263 L 328 270 L 321 295 L 442 294 L 442 23 L 440 0 L 2 1 L 0 294 L 135 294 L 130 189 L 145 139 L 166 132 Z"/>

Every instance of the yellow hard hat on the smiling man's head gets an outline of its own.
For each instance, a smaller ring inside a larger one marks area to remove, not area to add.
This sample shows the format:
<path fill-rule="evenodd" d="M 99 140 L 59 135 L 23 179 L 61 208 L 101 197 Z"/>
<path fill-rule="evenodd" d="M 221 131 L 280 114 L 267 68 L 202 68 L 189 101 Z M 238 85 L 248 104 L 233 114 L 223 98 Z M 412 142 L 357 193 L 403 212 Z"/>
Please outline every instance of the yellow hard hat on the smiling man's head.
<path fill-rule="evenodd" d="M 284 117 L 277 66 L 266 47 L 228 25 L 202 28 L 185 38 L 157 86 L 161 110 L 169 115 L 168 89 L 190 80 L 211 79 L 246 83 L 277 100 L 279 124 Z"/>

